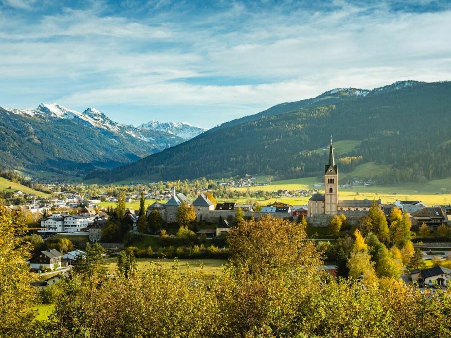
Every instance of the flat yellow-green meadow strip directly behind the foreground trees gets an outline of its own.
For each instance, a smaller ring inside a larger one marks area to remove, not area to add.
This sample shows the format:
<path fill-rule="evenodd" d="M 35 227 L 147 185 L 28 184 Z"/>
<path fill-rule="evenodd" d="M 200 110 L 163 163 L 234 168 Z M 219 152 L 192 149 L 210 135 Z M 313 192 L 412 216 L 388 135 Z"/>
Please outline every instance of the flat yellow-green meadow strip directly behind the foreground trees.
<path fill-rule="evenodd" d="M 174 265 L 174 260 L 169 259 L 156 259 L 156 258 L 137 258 L 138 262 L 138 270 L 144 270 L 149 267 L 151 262 L 161 263 L 166 269 L 172 269 Z M 189 269 L 198 270 L 199 262 L 205 265 L 202 269 L 203 273 L 207 277 L 212 277 L 214 275 L 218 275 L 222 273 L 221 265 L 225 264 L 227 260 L 196 260 L 196 259 L 179 259 L 179 271 L 184 272 L 188 269 L 187 264 L 189 265 Z M 115 271 L 117 266 L 117 258 L 107 258 L 106 262 L 108 263 L 106 267 L 111 271 Z"/>

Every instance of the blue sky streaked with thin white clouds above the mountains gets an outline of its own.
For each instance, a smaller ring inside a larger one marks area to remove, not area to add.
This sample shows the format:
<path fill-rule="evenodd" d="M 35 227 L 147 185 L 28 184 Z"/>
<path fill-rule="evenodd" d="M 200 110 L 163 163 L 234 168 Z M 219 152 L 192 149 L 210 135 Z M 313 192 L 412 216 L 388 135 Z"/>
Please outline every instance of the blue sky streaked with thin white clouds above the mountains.
<path fill-rule="evenodd" d="M 336 87 L 451 80 L 451 1 L 0 0 L 0 106 L 211 128 Z"/>

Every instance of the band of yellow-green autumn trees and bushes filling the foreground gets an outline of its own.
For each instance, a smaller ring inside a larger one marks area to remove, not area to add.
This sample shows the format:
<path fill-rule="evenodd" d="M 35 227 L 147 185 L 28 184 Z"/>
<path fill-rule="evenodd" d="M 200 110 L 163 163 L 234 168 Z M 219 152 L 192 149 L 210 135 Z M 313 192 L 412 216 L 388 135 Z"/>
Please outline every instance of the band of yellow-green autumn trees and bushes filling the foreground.
<path fill-rule="evenodd" d="M 451 333 L 448 291 L 421 291 L 400 279 L 361 275 L 359 266 L 350 266 L 358 277 L 335 279 L 322 268 L 314 241 L 306 241 L 302 223 L 269 216 L 232 228 L 230 261 L 214 278 L 202 269 L 180 272 L 177 260 L 172 269 L 152 263 L 139 271 L 131 251 L 121 253 L 114 272 L 107 271 L 103 249 L 88 246 L 69 278 L 58 284 L 49 320 L 35 321 L 26 248 L 20 231 L 12 230 L 14 215 L 0 207 L 0 216 L 1 253 L 9 258 L 0 265 L 2 336 L 438 338 Z M 14 234 L 16 242 L 5 241 Z M 357 236 L 351 256 L 367 256 L 366 245 Z"/>

